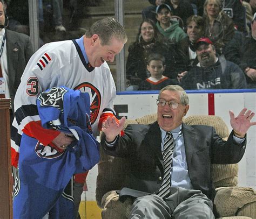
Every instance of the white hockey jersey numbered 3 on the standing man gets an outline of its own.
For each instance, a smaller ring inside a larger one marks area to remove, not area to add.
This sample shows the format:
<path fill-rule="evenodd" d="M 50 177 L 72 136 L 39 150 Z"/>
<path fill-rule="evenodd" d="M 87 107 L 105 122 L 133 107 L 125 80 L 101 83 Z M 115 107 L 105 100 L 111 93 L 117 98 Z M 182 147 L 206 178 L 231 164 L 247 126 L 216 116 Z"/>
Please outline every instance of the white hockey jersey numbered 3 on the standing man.
<path fill-rule="evenodd" d="M 36 100 L 42 91 L 60 86 L 89 93 L 94 134 L 100 116 L 114 114 L 112 107 L 116 86 L 107 63 L 96 68 L 88 66 L 75 40 L 46 44 L 30 58 L 15 96 L 15 119 L 11 134 L 12 165 L 17 166 L 23 132 L 43 145 L 50 144 L 59 134 L 58 131 L 42 128 Z"/>

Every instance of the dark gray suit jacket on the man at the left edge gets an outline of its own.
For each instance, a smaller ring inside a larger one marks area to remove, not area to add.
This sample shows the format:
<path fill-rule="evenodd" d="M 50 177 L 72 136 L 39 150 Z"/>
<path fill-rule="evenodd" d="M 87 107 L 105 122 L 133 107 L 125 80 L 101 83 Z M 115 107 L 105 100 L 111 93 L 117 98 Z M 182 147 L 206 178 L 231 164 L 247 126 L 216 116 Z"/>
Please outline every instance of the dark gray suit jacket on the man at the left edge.
<path fill-rule="evenodd" d="M 7 69 L 9 77 L 9 90 L 12 111 L 14 111 L 14 96 L 16 94 L 21 76 L 33 54 L 32 44 L 29 36 L 23 33 L 6 30 L 6 54 L 7 54 Z"/>

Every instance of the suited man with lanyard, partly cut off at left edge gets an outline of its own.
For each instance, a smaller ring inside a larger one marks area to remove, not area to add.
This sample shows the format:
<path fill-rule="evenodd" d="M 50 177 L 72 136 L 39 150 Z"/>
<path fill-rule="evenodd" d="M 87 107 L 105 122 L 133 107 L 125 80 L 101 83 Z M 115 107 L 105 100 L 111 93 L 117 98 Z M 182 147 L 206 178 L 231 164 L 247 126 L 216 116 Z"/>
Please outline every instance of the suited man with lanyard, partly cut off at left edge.
<path fill-rule="evenodd" d="M 5 29 L 8 25 L 8 19 L 5 18 L 5 3 L 0 0 L 0 98 L 11 98 L 14 109 L 14 96 L 33 49 L 28 36 Z"/>

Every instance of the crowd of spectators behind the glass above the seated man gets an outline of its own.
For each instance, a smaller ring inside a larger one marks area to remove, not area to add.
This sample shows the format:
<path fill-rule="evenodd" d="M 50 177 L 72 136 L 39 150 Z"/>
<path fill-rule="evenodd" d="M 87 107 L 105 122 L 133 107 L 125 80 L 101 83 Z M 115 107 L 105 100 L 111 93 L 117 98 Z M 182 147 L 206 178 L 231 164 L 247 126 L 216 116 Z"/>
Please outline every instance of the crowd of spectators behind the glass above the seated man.
<path fill-rule="evenodd" d="M 256 88 L 256 1 L 149 0 L 126 61 L 127 90 Z"/>

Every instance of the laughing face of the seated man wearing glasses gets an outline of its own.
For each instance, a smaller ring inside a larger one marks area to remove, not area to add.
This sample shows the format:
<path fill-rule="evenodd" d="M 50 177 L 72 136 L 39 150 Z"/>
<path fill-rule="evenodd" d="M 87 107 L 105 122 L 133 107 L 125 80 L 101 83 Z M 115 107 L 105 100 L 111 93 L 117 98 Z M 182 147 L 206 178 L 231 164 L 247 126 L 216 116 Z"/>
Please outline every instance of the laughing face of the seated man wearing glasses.
<path fill-rule="evenodd" d="M 164 90 L 159 99 L 180 103 L 180 92 Z M 177 109 L 172 109 L 166 103 L 164 107 L 157 107 L 157 122 L 161 129 L 171 131 L 176 129 L 181 123 L 183 116 L 186 115 L 189 105 L 179 104 Z"/>

